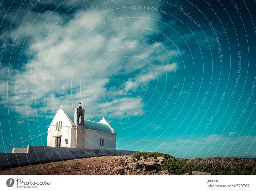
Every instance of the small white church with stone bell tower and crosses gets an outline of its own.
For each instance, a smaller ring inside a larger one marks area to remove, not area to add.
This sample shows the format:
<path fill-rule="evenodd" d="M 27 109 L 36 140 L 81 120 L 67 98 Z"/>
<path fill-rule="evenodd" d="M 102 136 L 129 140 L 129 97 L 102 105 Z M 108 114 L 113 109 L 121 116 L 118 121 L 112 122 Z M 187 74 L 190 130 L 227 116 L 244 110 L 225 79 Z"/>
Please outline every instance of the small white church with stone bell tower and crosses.
<path fill-rule="evenodd" d="M 47 131 L 47 146 L 116 150 L 116 132 L 104 117 L 100 122 L 84 119 L 79 102 L 74 122 L 60 106 Z"/>

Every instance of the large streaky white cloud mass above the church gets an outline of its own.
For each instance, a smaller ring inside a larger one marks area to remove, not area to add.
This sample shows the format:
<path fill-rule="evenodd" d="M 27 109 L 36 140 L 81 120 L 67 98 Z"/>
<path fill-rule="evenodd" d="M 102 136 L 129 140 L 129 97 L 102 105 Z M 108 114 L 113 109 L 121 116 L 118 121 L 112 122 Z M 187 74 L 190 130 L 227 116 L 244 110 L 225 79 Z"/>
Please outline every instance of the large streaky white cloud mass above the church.
<path fill-rule="evenodd" d="M 68 9 L 75 3 L 78 2 L 64 3 L 62 10 Z M 40 2 L 38 5 L 42 4 Z M 57 1 L 51 2 L 51 6 L 57 4 Z M 44 11 L 38 15 L 38 12 L 33 10 L 26 17 L 28 10 L 25 8 L 20 10 L 20 15 L 13 20 L 9 39 L 15 47 L 21 47 L 25 40 L 21 56 L 29 57 L 30 64 L 26 68 L 26 61 L 20 63 L 18 74 L 15 67 L 1 67 L 0 87 L 3 91 L 0 93 L 0 104 L 2 106 L 15 111 L 17 99 L 22 118 L 27 115 L 28 117 L 35 117 L 35 115 L 49 117 L 59 109 L 61 104 L 72 115 L 73 107 L 82 101 L 87 118 L 92 118 L 102 116 L 102 109 L 98 102 L 98 99 L 101 99 L 106 104 L 106 111 L 115 117 L 145 114 L 141 96 L 133 93 L 145 90 L 148 80 L 156 80 L 177 69 L 177 64 L 171 62 L 169 52 L 166 52 L 160 44 L 152 44 L 151 41 L 140 38 L 148 35 L 148 31 L 143 27 L 158 28 L 157 22 L 143 17 L 160 20 L 162 15 L 155 12 L 148 14 L 150 12 L 148 10 L 140 12 L 128 10 L 125 2 L 118 2 L 115 6 L 102 4 L 84 12 L 97 3 L 90 3 L 87 8 L 85 4 L 79 4 L 60 20 L 58 20 L 62 14 L 60 11 Z M 159 3 L 147 2 L 147 4 L 156 7 Z M 126 8 L 108 11 L 116 7 Z M 132 18 L 131 15 L 141 18 Z M 12 22 L 12 19 L 6 16 L 9 22 Z M 56 20 L 58 23 L 53 26 Z M 44 41 L 51 27 L 50 35 Z M 129 48 L 129 46 L 132 47 Z M 146 47 L 153 53 L 134 46 Z M 108 50 L 115 48 L 118 48 L 117 51 L 108 53 Z M 100 56 L 106 52 L 108 54 L 100 59 Z M 20 52 L 15 51 L 12 57 L 20 57 L 19 54 Z M 68 65 L 65 65 L 66 59 L 68 59 Z M 91 70 L 98 59 L 100 62 L 92 73 Z M 149 65 L 146 60 L 151 64 Z M 125 67 L 127 65 L 131 67 Z M 110 76 L 119 68 L 119 75 L 134 72 L 134 76 L 129 76 L 133 81 L 131 90 L 126 96 L 124 96 L 126 79 L 118 86 L 108 87 Z M 15 80 L 18 80 L 16 96 Z M 6 104 L 7 85 L 8 105 Z M 64 93 L 64 99 L 61 98 L 62 93 Z"/>

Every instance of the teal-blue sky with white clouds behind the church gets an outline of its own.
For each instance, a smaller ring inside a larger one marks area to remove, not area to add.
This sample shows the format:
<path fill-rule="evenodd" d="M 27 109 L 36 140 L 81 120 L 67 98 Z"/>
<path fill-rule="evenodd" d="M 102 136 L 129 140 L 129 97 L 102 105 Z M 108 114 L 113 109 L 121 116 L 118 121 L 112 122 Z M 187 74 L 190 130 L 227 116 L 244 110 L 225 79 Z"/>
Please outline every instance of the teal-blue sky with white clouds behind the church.
<path fill-rule="evenodd" d="M 81 101 L 117 149 L 255 157 L 255 2 L 31 2 L 0 5 L 1 152 Z"/>

